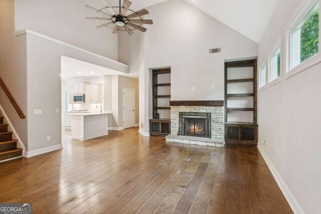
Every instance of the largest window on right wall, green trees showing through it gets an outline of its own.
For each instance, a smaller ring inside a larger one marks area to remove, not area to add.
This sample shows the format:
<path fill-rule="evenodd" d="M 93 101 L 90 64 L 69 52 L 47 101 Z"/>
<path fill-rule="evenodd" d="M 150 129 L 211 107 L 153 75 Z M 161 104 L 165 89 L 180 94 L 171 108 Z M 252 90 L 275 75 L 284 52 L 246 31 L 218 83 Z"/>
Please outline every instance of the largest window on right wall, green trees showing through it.
<path fill-rule="evenodd" d="M 290 33 L 291 69 L 319 52 L 319 1 L 309 9 Z"/>

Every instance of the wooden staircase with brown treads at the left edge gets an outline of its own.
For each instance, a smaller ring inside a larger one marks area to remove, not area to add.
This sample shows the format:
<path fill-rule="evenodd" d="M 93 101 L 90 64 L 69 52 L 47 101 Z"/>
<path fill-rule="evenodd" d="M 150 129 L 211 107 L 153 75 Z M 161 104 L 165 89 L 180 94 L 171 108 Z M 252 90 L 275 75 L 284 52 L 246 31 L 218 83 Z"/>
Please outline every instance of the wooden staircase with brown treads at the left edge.
<path fill-rule="evenodd" d="M 12 139 L 12 131 L 8 131 L 8 124 L 0 116 L 0 161 L 15 157 L 22 157 L 23 149 L 17 148 L 18 140 Z"/>

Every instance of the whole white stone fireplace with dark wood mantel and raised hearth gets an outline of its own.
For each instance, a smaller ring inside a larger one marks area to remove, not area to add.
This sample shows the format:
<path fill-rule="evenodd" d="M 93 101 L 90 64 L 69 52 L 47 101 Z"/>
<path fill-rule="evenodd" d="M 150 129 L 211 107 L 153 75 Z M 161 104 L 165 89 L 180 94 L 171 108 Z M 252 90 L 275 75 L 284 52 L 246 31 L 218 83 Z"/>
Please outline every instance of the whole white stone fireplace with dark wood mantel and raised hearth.
<path fill-rule="evenodd" d="M 224 101 L 171 101 L 167 142 L 222 147 Z"/>

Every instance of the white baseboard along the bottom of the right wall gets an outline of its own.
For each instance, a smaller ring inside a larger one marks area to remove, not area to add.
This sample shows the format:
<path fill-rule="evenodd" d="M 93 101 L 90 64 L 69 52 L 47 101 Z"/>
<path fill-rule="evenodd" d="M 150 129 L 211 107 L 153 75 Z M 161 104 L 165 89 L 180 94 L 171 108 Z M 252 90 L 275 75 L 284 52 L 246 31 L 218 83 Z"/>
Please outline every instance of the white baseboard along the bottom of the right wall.
<path fill-rule="evenodd" d="M 300 204 L 295 199 L 294 195 L 290 191 L 289 187 L 286 185 L 284 180 L 282 179 L 281 175 L 278 173 L 278 171 L 275 169 L 274 165 L 270 161 L 269 157 L 266 155 L 264 150 L 258 145 L 257 148 L 261 152 L 263 159 L 265 160 L 267 166 L 269 167 L 270 171 L 272 172 L 272 175 L 274 179 L 276 180 L 278 186 L 280 187 L 284 197 L 286 198 L 287 202 L 289 203 L 290 207 L 292 208 L 292 211 L 294 213 L 298 214 L 304 214 L 303 209 L 301 208 Z"/>

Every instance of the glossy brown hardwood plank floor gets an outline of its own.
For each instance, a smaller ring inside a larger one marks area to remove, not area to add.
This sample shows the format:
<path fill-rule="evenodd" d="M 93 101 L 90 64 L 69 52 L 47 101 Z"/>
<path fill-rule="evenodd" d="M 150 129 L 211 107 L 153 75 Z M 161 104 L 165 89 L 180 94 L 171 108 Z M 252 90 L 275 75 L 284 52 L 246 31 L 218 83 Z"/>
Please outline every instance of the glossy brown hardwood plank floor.
<path fill-rule="evenodd" d="M 136 128 L 0 169 L 0 202 L 34 213 L 292 213 L 256 147 L 166 144 Z"/>

